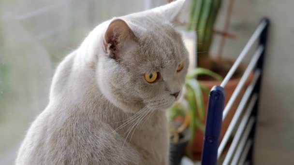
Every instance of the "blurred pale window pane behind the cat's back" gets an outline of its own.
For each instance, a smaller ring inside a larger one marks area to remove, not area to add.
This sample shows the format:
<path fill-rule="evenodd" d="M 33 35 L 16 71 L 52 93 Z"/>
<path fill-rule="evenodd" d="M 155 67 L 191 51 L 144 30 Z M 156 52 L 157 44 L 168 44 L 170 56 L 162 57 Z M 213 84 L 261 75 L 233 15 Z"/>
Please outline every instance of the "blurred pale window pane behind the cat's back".
<path fill-rule="evenodd" d="M 91 29 L 166 1 L 0 0 L 0 164 L 13 164 L 29 124 L 48 103 L 54 69 Z"/>

